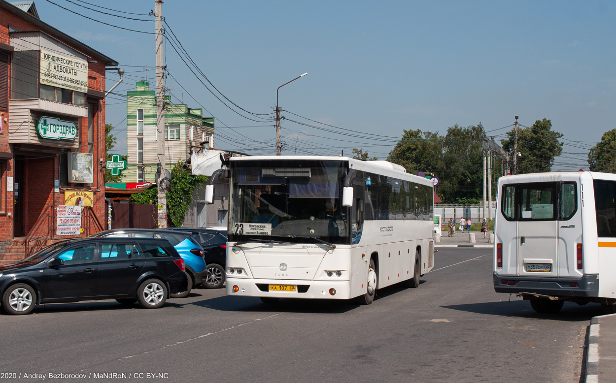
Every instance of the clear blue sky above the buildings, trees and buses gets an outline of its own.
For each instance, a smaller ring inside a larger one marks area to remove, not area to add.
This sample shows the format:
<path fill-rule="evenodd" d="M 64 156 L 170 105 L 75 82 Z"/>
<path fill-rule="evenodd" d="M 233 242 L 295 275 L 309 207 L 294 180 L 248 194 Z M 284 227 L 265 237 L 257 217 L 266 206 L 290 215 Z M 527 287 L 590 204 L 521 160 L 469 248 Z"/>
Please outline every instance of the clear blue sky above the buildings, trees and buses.
<path fill-rule="evenodd" d="M 154 30 L 151 21 L 92 12 L 68 0 L 49 1 L 102 22 Z M 155 38 L 102 25 L 49 1 L 36 0 L 42 20 L 126 70 L 118 95 L 107 100 L 107 123 L 116 127 L 117 149 L 124 153 L 126 91 L 141 79 L 154 83 Z M 114 10 L 92 7 L 103 12 L 153 20 L 115 12 L 148 14 L 153 0 L 86 1 Z M 511 129 L 499 128 L 513 124 L 518 115 L 525 126 L 551 119 L 553 129 L 564 134 L 565 154 L 554 170 L 588 169 L 588 148 L 616 127 L 615 10 L 610 1 L 163 3 L 166 22 L 190 57 L 245 110 L 272 113 L 277 87 L 309 73 L 280 89 L 280 107 L 303 117 L 282 113 L 287 118 L 282 123 L 285 154 L 339 155 L 344 149 L 350 155 L 351 148 L 363 148 L 385 159 L 403 129 L 442 134 L 453 124 L 482 123 L 498 140 Z M 216 118 L 217 148 L 275 153 L 273 121 L 261 122 L 226 100 L 230 108 L 225 106 L 190 73 L 169 42 L 164 49 L 175 78 L 167 83 L 173 102 L 183 100 L 192 108 L 201 104 Z M 109 72 L 108 87 L 117 79 Z M 339 128 L 359 137 L 347 137 Z"/>

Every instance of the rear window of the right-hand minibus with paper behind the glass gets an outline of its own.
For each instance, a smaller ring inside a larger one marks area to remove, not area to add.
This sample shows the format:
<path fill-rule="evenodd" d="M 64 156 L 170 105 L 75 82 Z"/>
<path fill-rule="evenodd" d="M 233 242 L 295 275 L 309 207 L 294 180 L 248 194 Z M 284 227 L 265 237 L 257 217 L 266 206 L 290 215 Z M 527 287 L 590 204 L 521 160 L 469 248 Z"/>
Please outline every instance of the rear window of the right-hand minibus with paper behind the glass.
<path fill-rule="evenodd" d="M 556 182 L 522 183 L 520 220 L 556 219 Z"/>

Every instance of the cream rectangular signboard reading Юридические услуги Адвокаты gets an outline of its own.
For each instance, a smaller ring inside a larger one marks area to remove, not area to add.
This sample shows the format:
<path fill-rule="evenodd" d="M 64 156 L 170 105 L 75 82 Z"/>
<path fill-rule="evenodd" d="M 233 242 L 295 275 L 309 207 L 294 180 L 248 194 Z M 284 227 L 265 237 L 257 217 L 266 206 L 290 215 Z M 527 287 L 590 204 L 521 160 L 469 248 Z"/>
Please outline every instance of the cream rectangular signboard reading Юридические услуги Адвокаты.
<path fill-rule="evenodd" d="M 41 84 L 87 93 L 87 61 L 41 49 Z"/>

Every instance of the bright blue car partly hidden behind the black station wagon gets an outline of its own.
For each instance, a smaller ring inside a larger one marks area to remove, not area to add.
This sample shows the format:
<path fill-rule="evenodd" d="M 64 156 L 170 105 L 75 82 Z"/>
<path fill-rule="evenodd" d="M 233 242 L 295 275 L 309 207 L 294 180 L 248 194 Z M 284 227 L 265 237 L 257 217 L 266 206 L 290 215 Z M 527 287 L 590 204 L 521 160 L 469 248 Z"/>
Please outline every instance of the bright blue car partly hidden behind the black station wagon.
<path fill-rule="evenodd" d="M 188 278 L 187 291 L 171 294 L 172 298 L 183 298 L 188 296 L 190 290 L 206 280 L 207 267 L 203 258 L 203 248 L 192 238 L 192 233 L 179 230 L 161 229 L 111 229 L 91 235 L 92 237 L 134 237 L 134 238 L 163 238 L 171 243 L 180 257 L 184 259 L 186 266 L 186 276 Z"/>

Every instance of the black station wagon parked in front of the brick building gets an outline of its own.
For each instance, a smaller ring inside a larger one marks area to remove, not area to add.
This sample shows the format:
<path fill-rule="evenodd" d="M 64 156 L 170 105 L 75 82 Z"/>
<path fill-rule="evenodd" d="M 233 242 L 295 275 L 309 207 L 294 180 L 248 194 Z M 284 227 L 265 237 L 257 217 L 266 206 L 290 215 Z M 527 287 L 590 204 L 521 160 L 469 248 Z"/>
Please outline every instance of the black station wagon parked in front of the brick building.
<path fill-rule="evenodd" d="M 156 238 L 65 240 L 0 267 L 2 308 L 14 315 L 36 304 L 99 299 L 158 308 L 187 285 L 184 260 Z"/>

